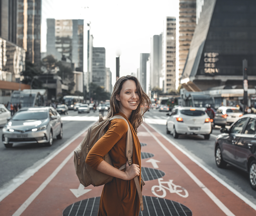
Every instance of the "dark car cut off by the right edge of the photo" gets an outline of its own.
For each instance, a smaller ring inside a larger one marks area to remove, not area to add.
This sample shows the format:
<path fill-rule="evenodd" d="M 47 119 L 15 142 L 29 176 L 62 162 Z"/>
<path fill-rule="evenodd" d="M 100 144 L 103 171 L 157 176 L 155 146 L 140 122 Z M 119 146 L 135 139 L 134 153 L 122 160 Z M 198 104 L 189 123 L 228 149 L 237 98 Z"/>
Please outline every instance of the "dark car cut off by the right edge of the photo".
<path fill-rule="evenodd" d="M 232 164 L 249 173 L 251 187 L 256 190 L 256 115 L 246 114 L 222 128 L 215 140 L 215 161 L 218 167 Z"/>

